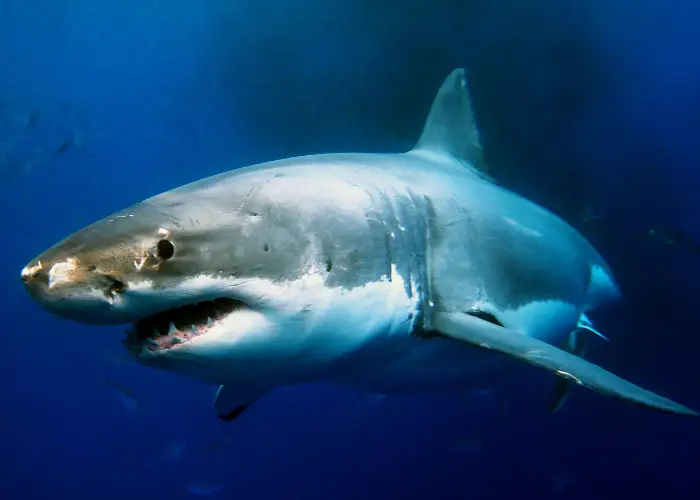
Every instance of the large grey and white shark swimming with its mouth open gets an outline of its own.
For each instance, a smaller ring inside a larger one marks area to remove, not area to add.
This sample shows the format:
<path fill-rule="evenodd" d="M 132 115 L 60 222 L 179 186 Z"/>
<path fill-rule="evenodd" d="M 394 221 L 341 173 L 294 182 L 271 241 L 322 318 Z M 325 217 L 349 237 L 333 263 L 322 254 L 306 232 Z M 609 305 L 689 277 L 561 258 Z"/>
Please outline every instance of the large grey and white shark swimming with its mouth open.
<path fill-rule="evenodd" d="M 312 155 L 206 178 L 86 227 L 21 277 L 57 316 L 133 324 L 124 344 L 137 361 L 219 385 L 223 420 L 312 381 L 464 390 L 508 357 L 695 415 L 555 347 L 592 325 L 586 313 L 617 286 L 579 233 L 481 165 L 457 69 L 407 153 Z"/>

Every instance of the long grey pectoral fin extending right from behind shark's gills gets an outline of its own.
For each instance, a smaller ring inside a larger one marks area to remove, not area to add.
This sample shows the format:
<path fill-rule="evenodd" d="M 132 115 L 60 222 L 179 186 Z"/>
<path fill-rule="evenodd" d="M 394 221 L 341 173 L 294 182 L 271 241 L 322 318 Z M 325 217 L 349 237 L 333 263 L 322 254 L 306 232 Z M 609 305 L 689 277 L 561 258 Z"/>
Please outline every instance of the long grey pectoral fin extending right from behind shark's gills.
<path fill-rule="evenodd" d="M 461 313 L 437 313 L 434 327 L 443 337 L 507 354 L 597 392 L 668 413 L 698 415 L 690 408 L 642 389 L 558 347 L 479 318 Z"/>

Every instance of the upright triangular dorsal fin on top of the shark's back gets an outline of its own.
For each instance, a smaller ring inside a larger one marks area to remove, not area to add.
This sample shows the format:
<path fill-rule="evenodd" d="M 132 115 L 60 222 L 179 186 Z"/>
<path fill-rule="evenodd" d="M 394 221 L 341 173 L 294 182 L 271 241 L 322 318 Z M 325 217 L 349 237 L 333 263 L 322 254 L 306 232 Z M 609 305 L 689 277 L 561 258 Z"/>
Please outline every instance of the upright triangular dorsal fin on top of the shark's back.
<path fill-rule="evenodd" d="M 485 173 L 464 68 L 455 69 L 443 82 L 413 151 L 449 156 Z"/>

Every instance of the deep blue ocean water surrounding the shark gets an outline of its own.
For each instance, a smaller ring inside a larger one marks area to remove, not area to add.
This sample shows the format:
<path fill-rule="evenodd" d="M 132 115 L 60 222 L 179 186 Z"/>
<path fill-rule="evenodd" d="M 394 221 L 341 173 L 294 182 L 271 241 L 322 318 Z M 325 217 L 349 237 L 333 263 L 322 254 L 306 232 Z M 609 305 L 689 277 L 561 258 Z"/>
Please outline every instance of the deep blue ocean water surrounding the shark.
<path fill-rule="evenodd" d="M 605 256 L 624 299 L 590 358 L 700 407 L 700 4 L 677 0 L 0 0 L 0 498 L 697 498 L 698 422 L 552 377 L 440 397 L 325 385 L 233 423 L 116 327 L 19 280 L 127 205 L 251 163 L 412 146 L 468 69 L 499 182 Z M 591 214 L 594 217 L 590 217 Z"/>

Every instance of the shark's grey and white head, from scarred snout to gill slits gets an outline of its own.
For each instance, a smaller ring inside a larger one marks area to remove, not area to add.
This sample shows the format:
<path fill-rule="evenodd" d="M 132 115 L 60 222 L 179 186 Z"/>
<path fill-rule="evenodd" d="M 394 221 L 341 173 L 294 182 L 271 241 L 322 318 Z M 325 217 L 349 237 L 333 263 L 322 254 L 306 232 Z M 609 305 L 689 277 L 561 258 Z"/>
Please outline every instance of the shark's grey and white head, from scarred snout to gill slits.
<path fill-rule="evenodd" d="M 57 316 L 129 325 L 124 343 L 138 361 L 213 383 L 232 359 L 259 371 L 262 359 L 293 365 L 302 351 L 333 357 L 337 343 L 309 348 L 317 332 L 369 334 L 393 322 L 392 297 L 409 304 L 385 279 L 371 197 L 333 176 L 309 182 L 321 167 L 308 161 L 145 200 L 48 249 L 21 278 Z M 362 245 L 357 234 L 367 236 Z"/>

